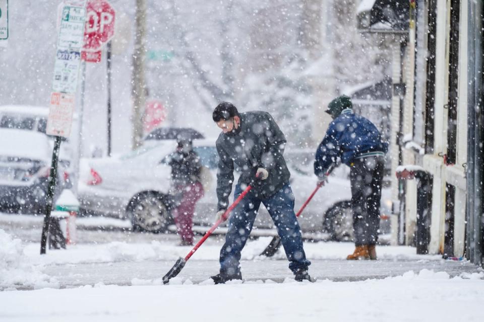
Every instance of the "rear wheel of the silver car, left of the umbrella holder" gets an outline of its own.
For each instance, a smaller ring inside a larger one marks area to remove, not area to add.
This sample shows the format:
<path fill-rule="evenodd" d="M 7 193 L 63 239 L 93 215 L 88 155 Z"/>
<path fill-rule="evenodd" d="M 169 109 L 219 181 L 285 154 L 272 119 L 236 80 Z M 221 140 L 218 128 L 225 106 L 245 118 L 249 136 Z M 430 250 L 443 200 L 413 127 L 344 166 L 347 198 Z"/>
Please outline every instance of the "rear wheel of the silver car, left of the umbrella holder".
<path fill-rule="evenodd" d="M 154 191 L 134 196 L 127 209 L 134 231 L 167 232 L 173 223 L 167 198 Z"/>

